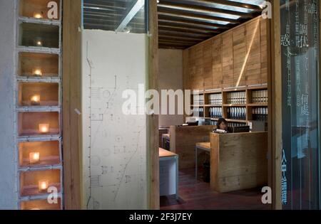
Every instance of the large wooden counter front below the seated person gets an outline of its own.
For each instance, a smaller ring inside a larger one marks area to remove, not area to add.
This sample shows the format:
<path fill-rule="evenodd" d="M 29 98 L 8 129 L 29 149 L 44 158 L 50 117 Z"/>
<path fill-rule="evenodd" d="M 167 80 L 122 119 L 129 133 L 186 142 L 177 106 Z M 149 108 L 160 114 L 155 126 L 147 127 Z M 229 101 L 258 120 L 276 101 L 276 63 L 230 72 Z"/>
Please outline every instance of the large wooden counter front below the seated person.
<path fill-rule="evenodd" d="M 220 193 L 267 186 L 267 132 L 210 134 L 210 186 Z"/>

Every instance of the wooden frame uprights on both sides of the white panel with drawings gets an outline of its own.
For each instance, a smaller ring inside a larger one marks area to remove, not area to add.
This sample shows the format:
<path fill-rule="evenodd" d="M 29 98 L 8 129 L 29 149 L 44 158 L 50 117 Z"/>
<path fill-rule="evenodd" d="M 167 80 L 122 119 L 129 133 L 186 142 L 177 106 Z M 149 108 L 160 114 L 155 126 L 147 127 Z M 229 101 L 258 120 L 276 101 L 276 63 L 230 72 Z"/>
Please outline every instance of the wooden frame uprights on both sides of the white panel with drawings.
<path fill-rule="evenodd" d="M 148 0 L 148 88 L 158 90 L 157 1 Z M 65 209 L 81 209 L 81 0 L 63 0 L 63 190 Z M 159 209 L 158 115 L 147 118 L 148 208 Z"/>

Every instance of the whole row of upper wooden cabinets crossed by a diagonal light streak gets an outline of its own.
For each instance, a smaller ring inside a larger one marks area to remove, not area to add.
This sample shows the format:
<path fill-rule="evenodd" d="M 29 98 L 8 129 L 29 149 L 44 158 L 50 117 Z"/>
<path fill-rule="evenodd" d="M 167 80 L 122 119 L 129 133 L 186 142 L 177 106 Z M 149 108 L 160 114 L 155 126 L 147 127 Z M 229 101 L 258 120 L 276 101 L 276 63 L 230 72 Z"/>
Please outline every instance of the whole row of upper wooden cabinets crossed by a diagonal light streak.
<path fill-rule="evenodd" d="M 186 73 L 190 88 L 212 90 L 267 84 L 267 28 L 267 20 L 259 16 L 188 48 Z"/>

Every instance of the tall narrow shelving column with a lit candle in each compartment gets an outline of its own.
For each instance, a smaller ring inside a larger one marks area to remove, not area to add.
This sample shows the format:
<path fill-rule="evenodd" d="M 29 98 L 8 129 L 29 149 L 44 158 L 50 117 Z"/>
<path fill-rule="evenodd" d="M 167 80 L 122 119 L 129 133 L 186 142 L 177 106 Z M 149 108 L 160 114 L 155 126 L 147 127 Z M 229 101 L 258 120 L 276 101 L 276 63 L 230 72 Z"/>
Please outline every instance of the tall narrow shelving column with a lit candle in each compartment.
<path fill-rule="evenodd" d="M 19 208 L 63 209 L 61 6 L 49 19 L 49 0 L 16 0 L 16 150 Z M 43 189 L 41 189 L 41 186 Z M 58 203 L 46 200 L 54 186 Z"/>

